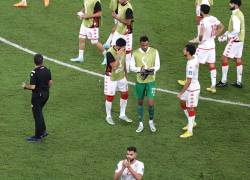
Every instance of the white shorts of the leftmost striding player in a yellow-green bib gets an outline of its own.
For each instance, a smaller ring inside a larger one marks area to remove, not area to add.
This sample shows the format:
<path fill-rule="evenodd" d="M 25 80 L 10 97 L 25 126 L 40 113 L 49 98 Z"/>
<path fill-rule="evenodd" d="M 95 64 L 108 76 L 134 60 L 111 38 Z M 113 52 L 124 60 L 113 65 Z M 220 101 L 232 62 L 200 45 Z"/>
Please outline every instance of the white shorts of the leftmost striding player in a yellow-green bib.
<path fill-rule="evenodd" d="M 79 38 L 98 40 L 99 39 L 99 28 L 88 28 L 83 24 L 80 27 Z"/>

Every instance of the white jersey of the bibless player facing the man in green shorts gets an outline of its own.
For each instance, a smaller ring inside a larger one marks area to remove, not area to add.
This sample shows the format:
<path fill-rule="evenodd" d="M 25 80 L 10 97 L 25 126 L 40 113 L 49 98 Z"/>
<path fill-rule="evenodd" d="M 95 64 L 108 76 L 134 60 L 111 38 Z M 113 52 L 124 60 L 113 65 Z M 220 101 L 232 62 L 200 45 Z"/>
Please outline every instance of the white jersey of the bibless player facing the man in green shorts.
<path fill-rule="evenodd" d="M 199 83 L 199 61 L 196 55 L 193 56 L 192 60 L 187 61 L 186 66 L 186 79 L 191 78 L 191 84 L 189 85 L 188 89 L 189 91 L 194 91 L 197 89 L 200 89 L 200 83 Z"/>

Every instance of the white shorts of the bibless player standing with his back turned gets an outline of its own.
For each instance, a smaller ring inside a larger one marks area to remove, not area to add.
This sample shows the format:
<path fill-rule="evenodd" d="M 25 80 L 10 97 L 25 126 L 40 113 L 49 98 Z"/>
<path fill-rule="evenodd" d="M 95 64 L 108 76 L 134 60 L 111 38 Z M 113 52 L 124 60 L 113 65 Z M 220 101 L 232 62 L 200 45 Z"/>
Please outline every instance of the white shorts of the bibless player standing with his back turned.
<path fill-rule="evenodd" d="M 213 49 L 202 49 L 197 48 L 196 55 L 200 64 L 215 63 L 215 48 Z"/>

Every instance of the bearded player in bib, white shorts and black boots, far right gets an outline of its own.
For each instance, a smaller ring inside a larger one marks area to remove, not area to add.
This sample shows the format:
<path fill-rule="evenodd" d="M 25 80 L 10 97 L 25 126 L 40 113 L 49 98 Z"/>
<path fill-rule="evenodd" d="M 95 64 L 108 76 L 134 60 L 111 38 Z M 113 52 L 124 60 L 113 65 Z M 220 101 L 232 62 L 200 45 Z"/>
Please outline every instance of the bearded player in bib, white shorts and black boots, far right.
<path fill-rule="evenodd" d="M 241 0 L 230 0 L 229 3 L 232 15 L 229 21 L 228 31 L 218 38 L 220 42 L 228 40 L 227 46 L 222 57 L 222 79 L 216 85 L 217 87 L 226 87 L 228 73 L 228 59 L 235 59 L 237 70 L 237 81 L 232 83 L 234 87 L 242 88 L 242 52 L 245 39 L 245 20 L 244 15 L 240 10 Z"/>

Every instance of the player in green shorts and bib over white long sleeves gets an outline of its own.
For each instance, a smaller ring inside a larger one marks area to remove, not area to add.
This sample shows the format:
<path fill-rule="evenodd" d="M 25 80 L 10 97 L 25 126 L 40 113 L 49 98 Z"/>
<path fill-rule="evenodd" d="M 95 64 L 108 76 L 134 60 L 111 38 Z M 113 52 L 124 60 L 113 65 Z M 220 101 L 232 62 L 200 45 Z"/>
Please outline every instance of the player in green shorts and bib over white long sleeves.
<path fill-rule="evenodd" d="M 137 96 L 137 113 L 139 126 L 136 130 L 140 133 L 143 125 L 143 100 L 148 97 L 149 127 L 152 132 L 156 131 L 154 125 L 154 98 L 155 98 L 155 76 L 160 69 L 159 53 L 156 49 L 149 47 L 147 36 L 140 38 L 140 48 L 133 52 L 130 62 L 130 70 L 137 73 L 135 92 Z"/>

